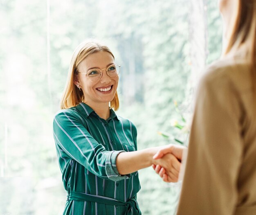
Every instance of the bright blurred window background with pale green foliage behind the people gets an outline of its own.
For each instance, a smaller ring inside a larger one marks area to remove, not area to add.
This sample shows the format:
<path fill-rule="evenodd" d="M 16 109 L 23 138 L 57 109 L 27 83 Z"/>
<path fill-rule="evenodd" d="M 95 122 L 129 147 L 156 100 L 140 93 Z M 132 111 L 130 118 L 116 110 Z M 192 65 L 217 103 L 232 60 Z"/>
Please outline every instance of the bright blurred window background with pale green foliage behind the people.
<path fill-rule="evenodd" d="M 0 215 L 62 214 L 52 121 L 88 37 L 121 65 L 117 114 L 137 126 L 138 148 L 187 143 L 195 86 L 221 55 L 217 0 L 1 0 L 0 20 Z M 142 214 L 175 214 L 180 183 L 139 177 Z"/>

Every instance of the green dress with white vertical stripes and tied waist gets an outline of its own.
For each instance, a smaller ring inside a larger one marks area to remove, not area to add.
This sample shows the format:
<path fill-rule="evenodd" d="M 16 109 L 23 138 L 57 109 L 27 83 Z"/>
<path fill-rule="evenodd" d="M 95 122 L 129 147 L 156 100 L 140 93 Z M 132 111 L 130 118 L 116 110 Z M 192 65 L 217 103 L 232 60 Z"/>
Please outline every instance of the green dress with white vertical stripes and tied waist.
<path fill-rule="evenodd" d="M 67 202 L 63 215 L 137 215 L 138 172 L 121 176 L 117 155 L 137 150 L 137 130 L 110 110 L 100 118 L 85 103 L 54 117 L 53 134 Z"/>

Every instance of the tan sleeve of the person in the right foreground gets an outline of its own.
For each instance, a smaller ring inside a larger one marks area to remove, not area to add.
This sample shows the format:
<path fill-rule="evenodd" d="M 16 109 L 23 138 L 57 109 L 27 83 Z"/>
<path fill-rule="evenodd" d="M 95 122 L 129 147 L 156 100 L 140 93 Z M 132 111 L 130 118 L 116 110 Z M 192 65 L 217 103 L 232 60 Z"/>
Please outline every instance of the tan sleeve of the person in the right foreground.
<path fill-rule="evenodd" d="M 242 160 L 238 92 L 221 72 L 198 87 L 177 215 L 232 215 Z"/>

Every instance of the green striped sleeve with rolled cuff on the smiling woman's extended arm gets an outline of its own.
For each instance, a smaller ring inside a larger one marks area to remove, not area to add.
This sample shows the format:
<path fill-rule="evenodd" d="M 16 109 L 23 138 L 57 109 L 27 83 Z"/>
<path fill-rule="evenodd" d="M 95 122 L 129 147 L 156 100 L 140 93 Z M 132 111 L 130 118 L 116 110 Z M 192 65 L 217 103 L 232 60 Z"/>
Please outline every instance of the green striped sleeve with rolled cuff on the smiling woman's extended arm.
<path fill-rule="evenodd" d="M 123 151 L 108 151 L 98 143 L 83 125 L 81 118 L 68 110 L 58 112 L 53 121 L 53 134 L 57 147 L 101 178 L 122 180 L 117 170 L 116 158 Z"/>

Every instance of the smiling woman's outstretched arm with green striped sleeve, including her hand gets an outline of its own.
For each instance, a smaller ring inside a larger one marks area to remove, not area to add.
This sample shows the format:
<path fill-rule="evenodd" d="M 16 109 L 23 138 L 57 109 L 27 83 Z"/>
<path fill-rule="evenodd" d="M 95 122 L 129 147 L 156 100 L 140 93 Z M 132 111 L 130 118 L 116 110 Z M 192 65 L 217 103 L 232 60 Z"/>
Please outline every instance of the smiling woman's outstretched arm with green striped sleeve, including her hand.
<path fill-rule="evenodd" d="M 153 155 L 159 147 L 130 152 L 107 151 L 89 134 L 79 116 L 70 110 L 56 114 L 53 132 L 56 144 L 68 156 L 101 178 L 122 180 L 129 178 L 130 173 L 139 169 L 161 164 L 170 169 L 172 181 L 177 181 L 180 162 L 173 155 L 168 154 L 162 159 L 153 160 Z"/>

